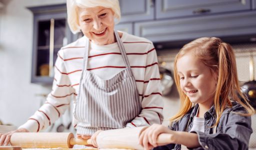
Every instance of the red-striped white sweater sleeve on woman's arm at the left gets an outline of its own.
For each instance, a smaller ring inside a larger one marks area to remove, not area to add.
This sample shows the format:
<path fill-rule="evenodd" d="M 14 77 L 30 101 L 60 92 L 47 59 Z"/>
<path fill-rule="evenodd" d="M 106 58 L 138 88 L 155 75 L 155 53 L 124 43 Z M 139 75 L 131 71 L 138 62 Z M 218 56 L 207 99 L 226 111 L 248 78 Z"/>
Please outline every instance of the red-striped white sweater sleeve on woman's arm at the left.
<path fill-rule="evenodd" d="M 30 132 L 47 128 L 64 113 L 73 95 L 76 95 L 65 69 L 62 50 L 58 52 L 54 73 L 52 90 L 45 103 L 19 128 L 26 128 Z"/>

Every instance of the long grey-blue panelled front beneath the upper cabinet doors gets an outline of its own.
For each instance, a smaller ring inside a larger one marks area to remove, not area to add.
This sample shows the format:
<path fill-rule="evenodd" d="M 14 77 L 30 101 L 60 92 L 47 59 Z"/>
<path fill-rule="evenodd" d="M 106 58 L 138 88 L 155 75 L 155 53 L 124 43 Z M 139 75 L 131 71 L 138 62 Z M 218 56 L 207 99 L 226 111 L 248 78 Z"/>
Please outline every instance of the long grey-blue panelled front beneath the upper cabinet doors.
<path fill-rule="evenodd" d="M 134 24 L 134 34 L 153 42 L 188 41 L 203 36 L 234 37 L 256 34 L 256 11 L 208 15 Z"/>

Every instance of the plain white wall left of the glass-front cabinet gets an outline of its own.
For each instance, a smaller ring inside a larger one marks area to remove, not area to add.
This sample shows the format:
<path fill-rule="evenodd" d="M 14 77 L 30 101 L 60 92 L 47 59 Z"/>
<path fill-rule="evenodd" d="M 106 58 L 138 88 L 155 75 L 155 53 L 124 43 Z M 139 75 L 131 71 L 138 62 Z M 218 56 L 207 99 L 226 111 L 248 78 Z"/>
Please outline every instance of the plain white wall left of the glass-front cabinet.
<path fill-rule="evenodd" d="M 30 83 L 32 12 L 28 6 L 64 3 L 65 0 L 9 0 L 0 10 L 0 120 L 21 125 L 40 105 L 36 94 L 50 87 Z"/>

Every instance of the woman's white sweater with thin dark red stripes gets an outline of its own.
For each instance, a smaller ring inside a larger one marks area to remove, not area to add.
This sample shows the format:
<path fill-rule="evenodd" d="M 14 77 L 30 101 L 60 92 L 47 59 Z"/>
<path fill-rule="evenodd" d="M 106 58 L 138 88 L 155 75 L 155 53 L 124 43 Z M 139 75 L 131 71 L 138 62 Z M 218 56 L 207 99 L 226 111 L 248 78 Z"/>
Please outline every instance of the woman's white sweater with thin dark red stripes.
<path fill-rule="evenodd" d="M 48 127 L 68 108 L 75 105 L 79 79 L 83 66 L 85 36 L 62 47 L 54 67 L 52 90 L 46 102 L 20 127 L 36 132 Z M 157 56 L 151 41 L 122 32 L 126 55 L 134 75 L 142 110 L 126 127 L 161 123 L 163 101 L 161 99 Z M 109 79 L 125 68 L 117 43 L 96 45 L 90 42 L 87 70 L 102 79 Z M 73 126 L 76 126 L 73 119 Z"/>

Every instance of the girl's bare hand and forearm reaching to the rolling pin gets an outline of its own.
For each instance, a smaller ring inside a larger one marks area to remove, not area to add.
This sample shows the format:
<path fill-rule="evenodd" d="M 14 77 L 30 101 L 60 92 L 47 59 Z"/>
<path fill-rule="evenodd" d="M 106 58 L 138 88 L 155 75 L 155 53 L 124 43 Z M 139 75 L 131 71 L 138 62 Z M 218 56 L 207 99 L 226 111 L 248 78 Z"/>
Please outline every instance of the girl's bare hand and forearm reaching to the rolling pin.
<path fill-rule="evenodd" d="M 171 138 L 168 143 L 157 143 L 157 137 L 160 133 L 171 134 Z M 139 143 L 144 147 L 144 149 L 151 149 L 152 147 L 166 145 L 169 143 L 182 144 L 190 148 L 200 146 L 196 133 L 173 131 L 159 124 L 153 124 L 145 129 L 139 136 Z"/>

